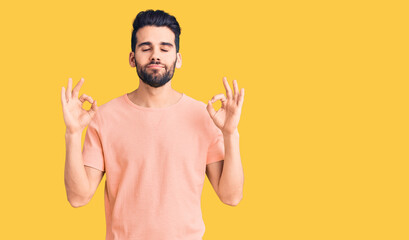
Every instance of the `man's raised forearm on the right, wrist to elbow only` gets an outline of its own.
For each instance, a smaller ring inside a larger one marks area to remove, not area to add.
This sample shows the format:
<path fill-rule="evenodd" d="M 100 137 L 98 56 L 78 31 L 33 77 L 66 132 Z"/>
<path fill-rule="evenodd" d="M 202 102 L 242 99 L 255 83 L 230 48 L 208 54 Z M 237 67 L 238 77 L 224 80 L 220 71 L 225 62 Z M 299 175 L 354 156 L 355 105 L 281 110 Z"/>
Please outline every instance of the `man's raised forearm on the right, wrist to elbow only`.
<path fill-rule="evenodd" d="M 243 197 L 244 174 L 240 158 L 239 133 L 224 134 L 225 158 L 219 181 L 219 194 L 224 202 L 237 205 Z"/>

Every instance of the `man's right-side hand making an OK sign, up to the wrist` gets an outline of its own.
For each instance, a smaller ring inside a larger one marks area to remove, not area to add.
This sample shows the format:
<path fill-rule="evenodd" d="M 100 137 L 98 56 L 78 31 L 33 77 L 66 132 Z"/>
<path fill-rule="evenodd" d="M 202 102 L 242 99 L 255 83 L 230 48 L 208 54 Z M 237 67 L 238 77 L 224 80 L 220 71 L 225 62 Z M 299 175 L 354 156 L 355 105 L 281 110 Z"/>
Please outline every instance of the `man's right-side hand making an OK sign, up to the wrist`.
<path fill-rule="evenodd" d="M 223 93 L 215 95 L 209 101 L 207 111 L 216 126 L 226 135 L 233 134 L 237 131 L 244 100 L 244 88 L 242 88 L 239 93 L 237 81 L 233 80 L 234 93 L 232 93 L 226 77 L 223 78 L 223 84 L 226 89 L 227 97 Z M 222 102 L 222 106 L 216 112 L 212 104 L 217 100 Z"/>

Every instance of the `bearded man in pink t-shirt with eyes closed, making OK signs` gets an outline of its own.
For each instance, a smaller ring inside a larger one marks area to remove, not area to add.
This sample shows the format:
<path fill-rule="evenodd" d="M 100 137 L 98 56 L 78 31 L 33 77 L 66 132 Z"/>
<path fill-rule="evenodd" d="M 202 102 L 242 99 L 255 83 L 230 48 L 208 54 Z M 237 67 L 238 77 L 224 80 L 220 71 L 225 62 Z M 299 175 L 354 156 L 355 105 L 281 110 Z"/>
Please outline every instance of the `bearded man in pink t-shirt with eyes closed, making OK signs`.
<path fill-rule="evenodd" d="M 242 199 L 237 126 L 244 89 L 233 81 L 232 91 L 223 78 L 226 96 L 207 106 L 177 92 L 171 87 L 182 65 L 176 18 L 148 10 L 133 27 L 129 64 L 139 76 L 136 90 L 98 107 L 90 96 L 78 99 L 84 79 L 62 88 L 67 198 L 73 207 L 86 205 L 106 173 L 106 239 L 202 239 L 205 174 L 223 203 Z M 88 111 L 85 101 L 92 104 Z"/>

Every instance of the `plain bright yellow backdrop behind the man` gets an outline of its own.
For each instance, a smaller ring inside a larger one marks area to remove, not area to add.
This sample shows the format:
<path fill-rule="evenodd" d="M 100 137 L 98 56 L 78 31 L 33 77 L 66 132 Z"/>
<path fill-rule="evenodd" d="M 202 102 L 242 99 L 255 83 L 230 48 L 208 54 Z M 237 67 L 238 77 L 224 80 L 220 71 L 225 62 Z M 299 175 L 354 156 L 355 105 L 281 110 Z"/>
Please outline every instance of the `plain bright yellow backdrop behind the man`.
<path fill-rule="evenodd" d="M 175 89 L 207 103 L 226 76 L 246 91 L 244 198 L 224 205 L 205 180 L 205 240 L 409 239 L 405 1 L 24 0 L 0 9 L 1 239 L 105 238 L 105 177 L 87 206 L 66 200 L 60 91 L 84 77 L 80 94 L 101 105 L 136 89 L 132 21 L 146 9 L 181 25 Z"/>

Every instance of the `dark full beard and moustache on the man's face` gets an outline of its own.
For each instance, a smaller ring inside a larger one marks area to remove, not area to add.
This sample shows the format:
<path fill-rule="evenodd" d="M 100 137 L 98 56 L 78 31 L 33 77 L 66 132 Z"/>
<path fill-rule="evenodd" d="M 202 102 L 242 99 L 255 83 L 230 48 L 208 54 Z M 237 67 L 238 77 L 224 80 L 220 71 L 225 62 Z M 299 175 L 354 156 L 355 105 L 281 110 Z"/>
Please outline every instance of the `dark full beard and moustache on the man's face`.
<path fill-rule="evenodd" d="M 151 62 L 149 64 L 159 64 L 158 62 Z M 136 65 L 136 72 L 138 73 L 139 78 L 144 82 L 145 84 L 148 84 L 151 87 L 158 88 L 163 85 L 165 85 L 167 82 L 169 82 L 173 74 L 175 73 L 175 67 L 176 67 L 176 60 L 169 69 L 168 66 L 164 66 L 165 68 L 165 73 L 159 74 L 159 72 L 162 69 L 150 69 L 152 73 L 148 73 L 147 71 L 147 64 L 146 66 L 141 66 L 136 62 L 135 59 L 135 65 Z"/>

